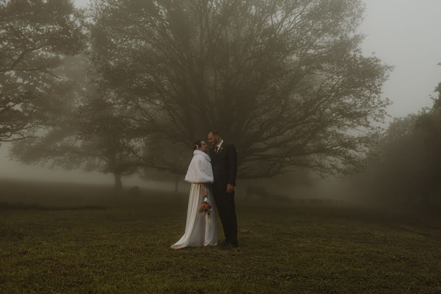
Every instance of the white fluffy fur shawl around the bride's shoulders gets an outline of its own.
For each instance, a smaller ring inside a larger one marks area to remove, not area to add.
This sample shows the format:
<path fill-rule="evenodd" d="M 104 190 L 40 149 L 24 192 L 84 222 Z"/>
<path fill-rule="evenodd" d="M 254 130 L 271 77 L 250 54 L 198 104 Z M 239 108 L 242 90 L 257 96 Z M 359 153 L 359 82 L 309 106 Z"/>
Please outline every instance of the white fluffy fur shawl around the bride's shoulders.
<path fill-rule="evenodd" d="M 207 153 L 201 150 L 193 151 L 193 158 L 185 175 L 185 181 L 195 184 L 212 183 L 214 181 L 211 159 Z"/>

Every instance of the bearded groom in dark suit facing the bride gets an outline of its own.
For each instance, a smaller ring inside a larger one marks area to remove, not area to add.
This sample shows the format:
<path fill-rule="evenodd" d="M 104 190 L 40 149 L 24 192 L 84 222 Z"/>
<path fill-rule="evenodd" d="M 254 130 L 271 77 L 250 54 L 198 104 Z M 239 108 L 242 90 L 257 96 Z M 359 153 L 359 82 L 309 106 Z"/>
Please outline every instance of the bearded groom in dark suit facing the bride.
<path fill-rule="evenodd" d="M 234 186 L 236 185 L 237 152 L 233 144 L 226 143 L 215 130 L 208 132 L 208 143 L 213 168 L 213 195 L 217 211 L 224 227 L 224 245 L 237 244 L 237 219 L 234 206 Z"/>

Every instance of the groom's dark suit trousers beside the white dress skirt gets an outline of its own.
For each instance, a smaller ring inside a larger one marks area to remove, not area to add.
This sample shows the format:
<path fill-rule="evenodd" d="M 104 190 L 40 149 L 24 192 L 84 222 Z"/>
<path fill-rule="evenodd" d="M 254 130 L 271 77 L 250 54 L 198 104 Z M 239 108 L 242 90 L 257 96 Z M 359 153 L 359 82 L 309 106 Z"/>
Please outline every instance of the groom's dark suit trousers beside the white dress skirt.
<path fill-rule="evenodd" d="M 227 193 L 227 184 L 213 187 L 214 201 L 217 212 L 224 228 L 225 239 L 229 242 L 237 242 L 237 218 L 234 204 L 234 192 Z"/>

